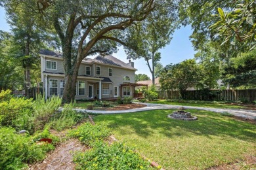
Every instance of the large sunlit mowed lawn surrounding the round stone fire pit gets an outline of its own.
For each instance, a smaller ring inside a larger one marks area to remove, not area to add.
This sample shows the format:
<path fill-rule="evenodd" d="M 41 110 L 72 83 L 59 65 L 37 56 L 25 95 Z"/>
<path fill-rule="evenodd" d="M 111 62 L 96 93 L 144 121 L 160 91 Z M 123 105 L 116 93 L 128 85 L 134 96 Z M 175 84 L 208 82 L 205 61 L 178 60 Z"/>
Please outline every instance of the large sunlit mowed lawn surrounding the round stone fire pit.
<path fill-rule="evenodd" d="M 173 110 L 150 110 L 95 117 L 117 140 L 135 146 L 165 169 L 205 169 L 256 153 L 256 126 L 215 112 L 188 110 L 196 121 L 167 118 Z"/>

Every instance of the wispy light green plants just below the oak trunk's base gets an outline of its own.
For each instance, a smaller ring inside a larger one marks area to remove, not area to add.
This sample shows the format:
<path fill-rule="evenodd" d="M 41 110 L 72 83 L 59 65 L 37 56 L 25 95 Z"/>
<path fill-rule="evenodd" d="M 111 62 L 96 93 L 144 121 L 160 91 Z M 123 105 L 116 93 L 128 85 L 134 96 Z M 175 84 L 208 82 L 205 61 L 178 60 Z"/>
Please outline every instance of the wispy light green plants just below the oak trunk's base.
<path fill-rule="evenodd" d="M 84 112 L 77 112 L 73 110 L 75 103 L 64 105 L 62 112 L 56 112 L 53 114 L 49 124 L 53 129 L 61 131 L 64 128 L 72 127 L 78 122 L 81 122 L 84 118 L 87 118 L 87 114 Z"/>

